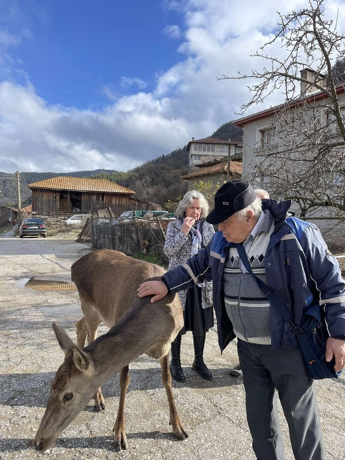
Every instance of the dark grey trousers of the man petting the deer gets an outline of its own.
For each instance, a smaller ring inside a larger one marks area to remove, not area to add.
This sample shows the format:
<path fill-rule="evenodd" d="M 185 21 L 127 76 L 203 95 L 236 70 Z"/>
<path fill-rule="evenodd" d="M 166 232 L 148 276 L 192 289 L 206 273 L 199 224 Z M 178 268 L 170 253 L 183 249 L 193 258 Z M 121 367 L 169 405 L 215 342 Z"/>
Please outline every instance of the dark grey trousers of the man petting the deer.
<path fill-rule="evenodd" d="M 296 460 L 324 460 L 315 386 L 299 349 L 272 351 L 238 339 L 238 356 L 246 390 L 247 421 L 258 460 L 283 460 L 275 388 Z"/>

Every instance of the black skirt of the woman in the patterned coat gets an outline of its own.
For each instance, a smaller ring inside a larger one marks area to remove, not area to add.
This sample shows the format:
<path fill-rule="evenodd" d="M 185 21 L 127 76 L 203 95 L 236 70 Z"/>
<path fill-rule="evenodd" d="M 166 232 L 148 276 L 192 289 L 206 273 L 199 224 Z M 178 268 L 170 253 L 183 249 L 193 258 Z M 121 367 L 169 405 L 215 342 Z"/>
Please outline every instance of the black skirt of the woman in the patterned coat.
<path fill-rule="evenodd" d="M 183 312 L 184 327 L 180 330 L 180 335 L 191 331 L 193 335 L 200 337 L 213 328 L 213 307 L 202 308 L 201 293 L 202 288 L 198 286 L 188 289 Z"/>

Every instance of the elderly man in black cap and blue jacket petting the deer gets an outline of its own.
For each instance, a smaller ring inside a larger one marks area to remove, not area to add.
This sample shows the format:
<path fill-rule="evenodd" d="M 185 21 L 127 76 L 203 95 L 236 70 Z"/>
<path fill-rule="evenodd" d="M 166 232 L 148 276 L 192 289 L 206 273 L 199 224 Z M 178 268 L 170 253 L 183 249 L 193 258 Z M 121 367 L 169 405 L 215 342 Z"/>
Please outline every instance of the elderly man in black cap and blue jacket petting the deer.
<path fill-rule="evenodd" d="M 151 302 L 168 292 L 213 281 L 220 350 L 237 336 L 246 391 L 247 421 L 258 460 L 282 460 L 275 388 L 289 426 L 297 460 L 324 460 L 313 381 L 291 325 L 277 315 L 239 258 L 242 243 L 252 270 L 266 282 L 299 323 L 311 299 L 325 311 L 326 360 L 345 364 L 345 283 L 339 264 L 313 224 L 288 214 L 291 201 L 261 201 L 243 179 L 224 184 L 207 216 L 219 231 L 205 249 L 161 281 L 143 283 L 139 297 Z"/>

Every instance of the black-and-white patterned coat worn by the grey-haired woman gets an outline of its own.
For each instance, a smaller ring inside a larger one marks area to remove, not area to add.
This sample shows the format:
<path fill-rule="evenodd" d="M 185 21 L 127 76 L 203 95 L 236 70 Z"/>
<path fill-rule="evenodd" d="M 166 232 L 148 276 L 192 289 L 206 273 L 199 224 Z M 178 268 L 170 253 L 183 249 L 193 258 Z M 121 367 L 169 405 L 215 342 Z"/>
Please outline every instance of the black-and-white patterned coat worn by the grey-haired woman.
<path fill-rule="evenodd" d="M 182 219 L 176 219 L 170 222 L 167 228 L 167 237 L 164 245 L 164 253 L 169 257 L 168 270 L 173 270 L 178 265 L 184 264 L 184 262 L 191 257 L 192 251 L 192 238 L 190 233 L 185 236 L 182 232 Z M 214 234 L 213 226 L 204 220 L 201 227 L 202 242 L 201 247 L 205 247 L 211 240 Z M 201 304 L 202 308 L 212 307 L 212 282 L 205 282 L 205 288 L 202 288 Z M 187 290 L 180 291 L 178 293 L 182 309 L 184 310 L 186 305 Z"/>

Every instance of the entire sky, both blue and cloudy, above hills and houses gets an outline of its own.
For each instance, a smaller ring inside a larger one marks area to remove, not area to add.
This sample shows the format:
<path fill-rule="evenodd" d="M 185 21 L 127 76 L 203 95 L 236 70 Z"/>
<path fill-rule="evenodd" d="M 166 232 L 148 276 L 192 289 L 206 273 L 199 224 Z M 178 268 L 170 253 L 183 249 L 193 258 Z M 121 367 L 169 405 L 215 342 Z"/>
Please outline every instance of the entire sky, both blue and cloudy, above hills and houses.
<path fill-rule="evenodd" d="M 306 5 L 279 2 L 282 12 Z M 344 0 L 325 6 L 345 23 Z M 0 0 L 0 171 L 127 171 L 212 134 L 250 98 L 246 82 L 216 77 L 256 68 L 249 55 L 272 38 L 276 9 L 276 0 Z"/>

